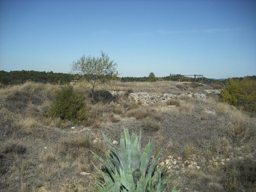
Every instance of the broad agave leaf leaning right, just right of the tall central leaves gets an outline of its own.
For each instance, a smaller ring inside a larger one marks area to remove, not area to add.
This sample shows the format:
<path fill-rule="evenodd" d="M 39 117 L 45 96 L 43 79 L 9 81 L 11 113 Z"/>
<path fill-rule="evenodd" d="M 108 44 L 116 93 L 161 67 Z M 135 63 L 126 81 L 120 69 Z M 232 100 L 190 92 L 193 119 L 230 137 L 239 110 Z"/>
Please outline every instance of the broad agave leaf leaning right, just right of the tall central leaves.
<path fill-rule="evenodd" d="M 140 158 L 140 172 L 146 172 L 148 169 L 148 163 L 153 151 L 153 144 L 154 144 L 154 136 L 151 142 L 148 141 L 148 144 L 145 147 L 144 152 Z"/>

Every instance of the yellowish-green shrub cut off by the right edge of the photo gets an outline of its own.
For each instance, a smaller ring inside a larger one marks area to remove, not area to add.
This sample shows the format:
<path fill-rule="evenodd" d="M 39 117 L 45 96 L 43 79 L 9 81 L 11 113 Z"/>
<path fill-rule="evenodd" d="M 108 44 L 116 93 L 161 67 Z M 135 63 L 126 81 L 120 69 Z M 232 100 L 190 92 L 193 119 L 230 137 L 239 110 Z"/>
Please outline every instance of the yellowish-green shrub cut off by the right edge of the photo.
<path fill-rule="evenodd" d="M 256 80 L 250 77 L 244 77 L 241 81 L 228 79 L 226 88 L 220 94 L 220 100 L 256 113 Z"/>

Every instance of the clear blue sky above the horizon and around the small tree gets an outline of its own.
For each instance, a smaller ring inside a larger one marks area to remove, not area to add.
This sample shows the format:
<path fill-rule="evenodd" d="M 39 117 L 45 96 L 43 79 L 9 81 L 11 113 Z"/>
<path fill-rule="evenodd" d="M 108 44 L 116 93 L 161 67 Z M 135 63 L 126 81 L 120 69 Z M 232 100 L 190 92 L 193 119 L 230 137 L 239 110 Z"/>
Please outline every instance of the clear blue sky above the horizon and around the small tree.
<path fill-rule="evenodd" d="M 106 52 L 120 76 L 256 74 L 256 1 L 1 1 L 0 70 L 68 73 Z"/>

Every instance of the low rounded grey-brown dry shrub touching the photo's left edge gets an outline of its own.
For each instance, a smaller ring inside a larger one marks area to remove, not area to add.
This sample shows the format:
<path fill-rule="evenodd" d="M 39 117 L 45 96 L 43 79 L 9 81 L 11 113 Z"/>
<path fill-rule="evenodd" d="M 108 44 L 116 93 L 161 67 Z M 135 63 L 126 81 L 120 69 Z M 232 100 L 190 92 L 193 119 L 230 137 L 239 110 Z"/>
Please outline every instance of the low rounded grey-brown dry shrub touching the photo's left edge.
<path fill-rule="evenodd" d="M 18 153 L 23 154 L 27 150 L 27 147 L 23 143 L 17 140 L 7 140 L 2 146 L 3 153 Z"/>

